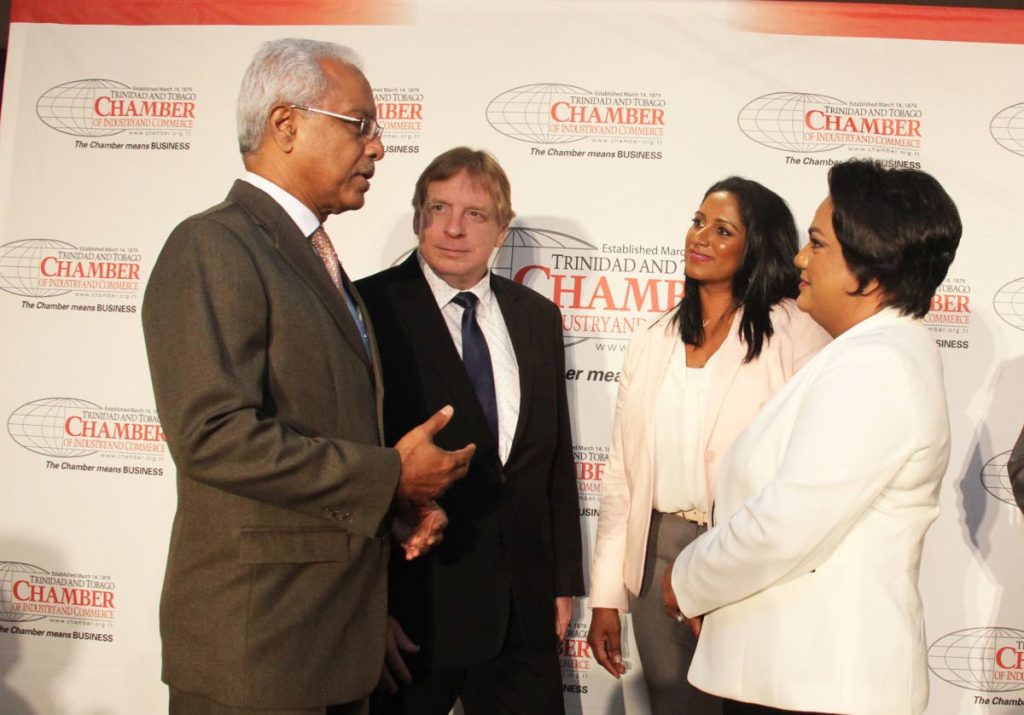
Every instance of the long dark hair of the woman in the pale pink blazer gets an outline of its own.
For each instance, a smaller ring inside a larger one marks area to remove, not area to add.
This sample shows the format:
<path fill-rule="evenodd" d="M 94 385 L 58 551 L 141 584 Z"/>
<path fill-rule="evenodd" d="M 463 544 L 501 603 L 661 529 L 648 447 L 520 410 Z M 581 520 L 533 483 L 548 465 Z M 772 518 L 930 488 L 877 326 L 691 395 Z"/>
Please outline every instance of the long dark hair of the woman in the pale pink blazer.
<path fill-rule="evenodd" d="M 730 307 L 743 309 L 739 337 L 746 345 L 743 362 L 750 363 L 775 334 L 770 318 L 772 306 L 799 294 L 800 269 L 793 263 L 799 248 L 797 224 L 785 201 L 757 181 L 729 176 L 713 184 L 703 198 L 716 192 L 727 192 L 736 199 L 746 228 L 743 255 L 732 277 Z M 687 278 L 683 299 L 672 316 L 687 345 L 703 345 L 706 339 L 699 288 L 698 280 Z"/>

